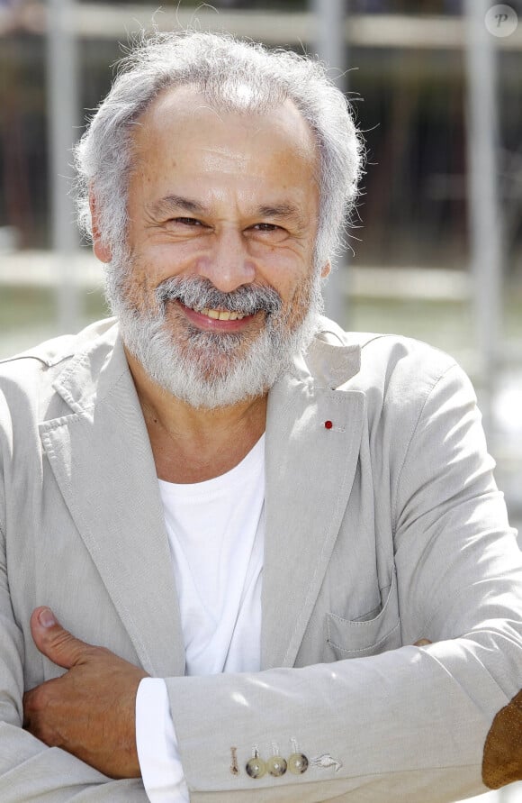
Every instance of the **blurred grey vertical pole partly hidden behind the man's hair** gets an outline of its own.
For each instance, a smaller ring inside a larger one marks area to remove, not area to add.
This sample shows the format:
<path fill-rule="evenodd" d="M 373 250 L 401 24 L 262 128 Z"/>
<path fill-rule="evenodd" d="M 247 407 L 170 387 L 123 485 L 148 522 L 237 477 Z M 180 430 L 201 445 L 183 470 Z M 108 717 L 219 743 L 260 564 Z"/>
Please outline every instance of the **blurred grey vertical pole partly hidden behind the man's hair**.
<path fill-rule="evenodd" d="M 344 6 L 344 0 L 311 0 L 311 11 L 315 18 L 314 47 L 320 59 L 335 71 L 332 78 L 342 90 L 346 90 L 344 73 L 347 64 Z M 342 264 L 341 260 L 332 264 L 332 272 L 323 288 L 326 314 L 341 325 L 347 324 L 348 317 L 343 276 L 346 264 L 346 256 Z"/>

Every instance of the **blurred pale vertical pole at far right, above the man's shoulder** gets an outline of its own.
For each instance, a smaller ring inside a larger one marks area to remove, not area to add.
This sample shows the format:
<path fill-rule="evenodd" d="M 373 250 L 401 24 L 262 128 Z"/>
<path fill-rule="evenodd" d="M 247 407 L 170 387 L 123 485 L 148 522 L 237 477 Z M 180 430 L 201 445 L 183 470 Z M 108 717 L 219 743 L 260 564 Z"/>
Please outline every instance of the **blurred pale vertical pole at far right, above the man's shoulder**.
<path fill-rule="evenodd" d="M 491 434 L 493 393 L 500 356 L 502 244 L 497 187 L 496 38 L 485 24 L 490 6 L 489 0 L 465 0 L 464 4 L 470 255 L 476 342 L 484 392 L 482 414 L 486 433 Z"/>

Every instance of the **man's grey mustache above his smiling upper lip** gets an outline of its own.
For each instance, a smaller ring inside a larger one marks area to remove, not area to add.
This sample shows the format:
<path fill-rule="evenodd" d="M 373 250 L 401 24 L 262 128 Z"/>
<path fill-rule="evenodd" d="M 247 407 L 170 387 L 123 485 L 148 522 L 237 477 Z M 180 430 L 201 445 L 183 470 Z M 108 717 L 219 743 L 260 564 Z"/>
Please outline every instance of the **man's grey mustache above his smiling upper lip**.
<path fill-rule="evenodd" d="M 181 301 L 192 309 L 222 309 L 239 315 L 265 312 L 274 315 L 283 306 L 283 299 L 274 287 L 244 285 L 231 293 L 223 293 L 208 278 L 166 278 L 156 288 L 157 303 L 165 310 L 168 301 Z"/>

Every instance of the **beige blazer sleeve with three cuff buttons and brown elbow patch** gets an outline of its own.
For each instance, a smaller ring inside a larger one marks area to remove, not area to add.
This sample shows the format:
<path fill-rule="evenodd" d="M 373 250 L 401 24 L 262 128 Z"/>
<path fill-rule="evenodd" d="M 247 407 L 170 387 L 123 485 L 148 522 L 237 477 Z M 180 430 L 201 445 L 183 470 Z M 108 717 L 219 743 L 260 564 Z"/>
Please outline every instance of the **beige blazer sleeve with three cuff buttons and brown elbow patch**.
<path fill-rule="evenodd" d="M 498 727 L 522 686 L 522 570 L 491 470 L 473 389 L 453 366 L 390 471 L 404 646 L 168 679 L 193 803 L 442 803 L 522 778 L 517 740 Z M 421 637 L 432 643 L 414 646 Z M 266 744 L 286 757 L 297 746 L 308 769 L 249 777 Z"/>

